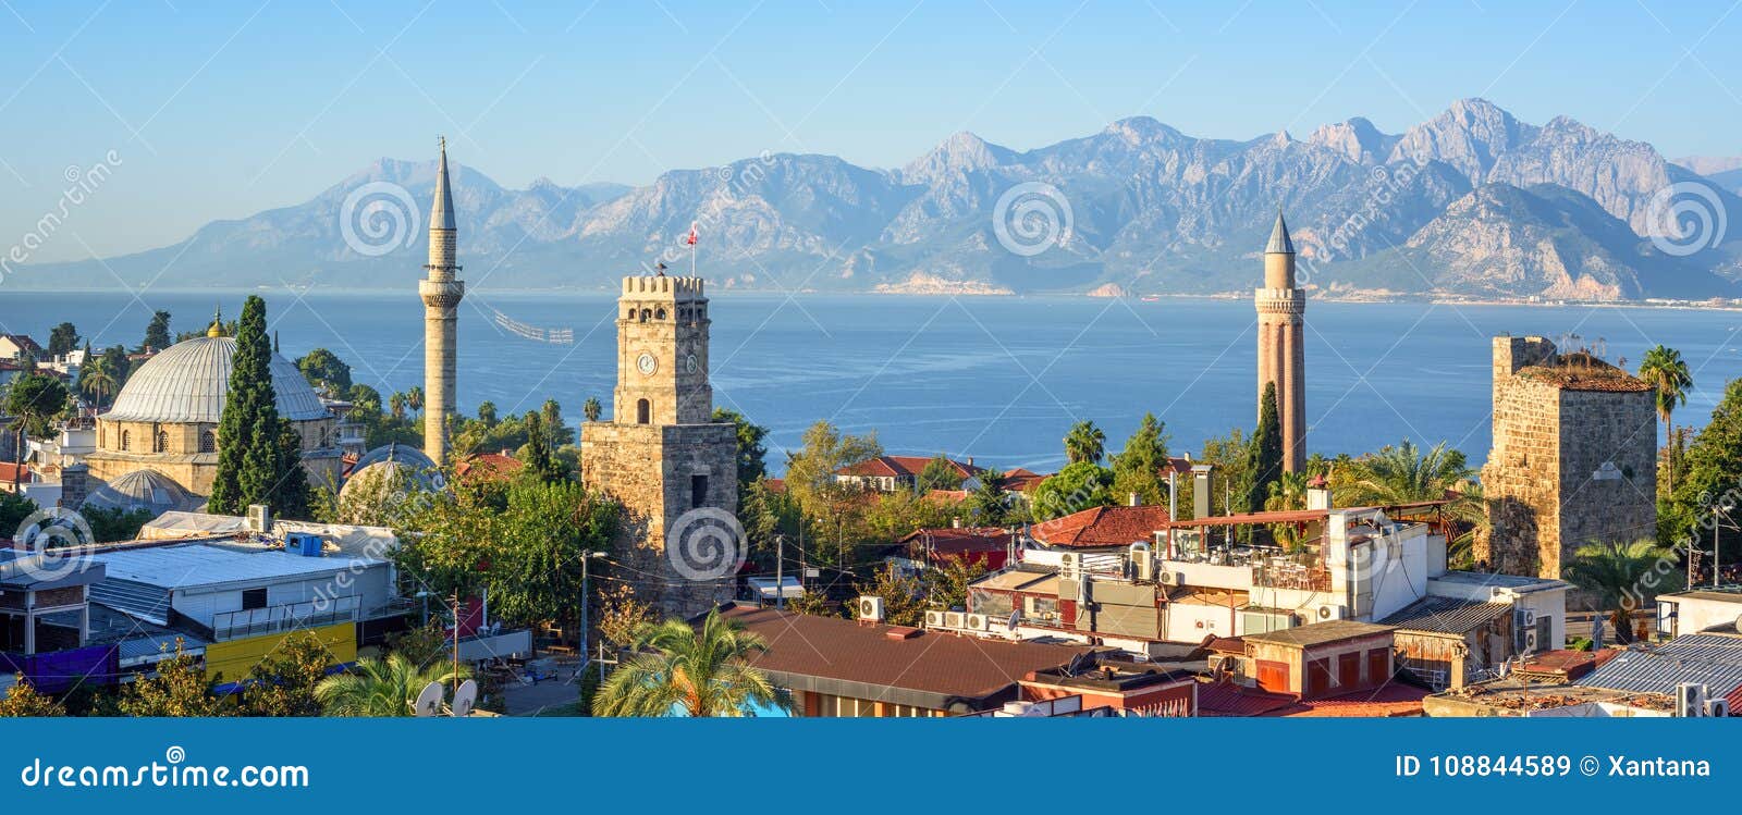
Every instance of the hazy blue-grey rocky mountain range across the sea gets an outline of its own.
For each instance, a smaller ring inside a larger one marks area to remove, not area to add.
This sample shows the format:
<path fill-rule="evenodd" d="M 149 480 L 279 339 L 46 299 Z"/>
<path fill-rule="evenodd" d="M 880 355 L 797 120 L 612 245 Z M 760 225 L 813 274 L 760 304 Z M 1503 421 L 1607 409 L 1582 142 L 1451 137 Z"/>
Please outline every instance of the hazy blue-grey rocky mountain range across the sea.
<path fill-rule="evenodd" d="M 434 167 L 381 158 L 305 204 L 12 282 L 413 286 L 423 235 L 392 216 L 422 225 Z M 646 186 L 509 190 L 456 165 L 453 186 L 463 277 L 496 289 L 681 272 L 695 223 L 700 272 L 728 287 L 1240 293 L 1280 209 L 1319 293 L 1637 300 L 1742 296 L 1739 172 L 1462 99 L 1401 134 L 1350 118 L 1235 141 L 1134 117 L 1026 152 L 958 132 L 899 169 L 775 153 Z"/>

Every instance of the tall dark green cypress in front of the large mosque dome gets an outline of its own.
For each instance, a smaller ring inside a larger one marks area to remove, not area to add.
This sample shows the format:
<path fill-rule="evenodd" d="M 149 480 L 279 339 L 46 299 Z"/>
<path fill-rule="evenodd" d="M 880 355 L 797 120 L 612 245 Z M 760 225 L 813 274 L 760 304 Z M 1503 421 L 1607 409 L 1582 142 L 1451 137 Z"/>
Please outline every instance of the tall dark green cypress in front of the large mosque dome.
<path fill-rule="evenodd" d="M 240 515 L 251 503 L 272 503 L 284 472 L 282 423 L 272 388 L 267 301 L 249 296 L 237 322 L 230 390 L 218 420 L 218 472 L 211 512 Z M 296 467 L 301 467 L 300 460 Z M 307 489 L 307 481 L 303 482 Z M 305 498 L 307 503 L 307 498 Z M 279 507 L 273 505 L 273 512 Z"/>

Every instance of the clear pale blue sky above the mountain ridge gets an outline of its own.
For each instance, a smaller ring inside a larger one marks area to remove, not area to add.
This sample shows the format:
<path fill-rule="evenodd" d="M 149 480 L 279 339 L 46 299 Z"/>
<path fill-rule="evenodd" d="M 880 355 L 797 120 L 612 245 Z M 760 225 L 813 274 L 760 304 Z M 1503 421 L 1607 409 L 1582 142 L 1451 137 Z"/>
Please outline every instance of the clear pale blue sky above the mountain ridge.
<path fill-rule="evenodd" d="M 120 165 L 37 259 L 176 242 L 383 155 L 509 186 L 772 152 L 892 167 L 1151 115 L 1198 136 L 1395 132 L 1465 96 L 1676 155 L 1742 153 L 1735 3 L 138 0 L 0 7 L 0 235 Z M 10 242 L 0 240 L 0 244 Z"/>

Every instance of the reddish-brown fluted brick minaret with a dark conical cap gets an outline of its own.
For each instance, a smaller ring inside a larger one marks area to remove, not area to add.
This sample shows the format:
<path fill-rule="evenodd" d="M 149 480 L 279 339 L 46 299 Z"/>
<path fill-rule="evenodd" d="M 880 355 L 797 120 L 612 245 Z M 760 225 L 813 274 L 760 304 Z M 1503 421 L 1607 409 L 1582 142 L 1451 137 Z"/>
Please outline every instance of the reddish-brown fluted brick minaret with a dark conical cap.
<path fill-rule="evenodd" d="M 1265 246 L 1265 287 L 1252 293 L 1252 305 L 1258 308 L 1258 411 L 1265 411 L 1265 385 L 1275 383 L 1282 468 L 1300 472 L 1306 467 L 1306 350 L 1301 338 L 1306 293 L 1294 287 L 1294 242 L 1282 212 Z"/>

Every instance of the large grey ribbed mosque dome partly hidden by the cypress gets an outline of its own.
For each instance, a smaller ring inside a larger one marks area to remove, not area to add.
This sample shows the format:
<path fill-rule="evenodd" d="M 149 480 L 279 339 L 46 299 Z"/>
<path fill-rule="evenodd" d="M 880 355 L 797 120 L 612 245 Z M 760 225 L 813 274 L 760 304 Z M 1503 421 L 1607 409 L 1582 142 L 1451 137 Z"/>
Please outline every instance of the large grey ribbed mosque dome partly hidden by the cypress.
<path fill-rule="evenodd" d="M 230 392 L 230 366 L 235 340 L 200 336 L 164 348 L 120 388 L 115 408 L 103 414 L 110 421 L 216 423 Z M 293 420 L 327 418 L 321 397 L 303 380 L 291 360 L 272 355 L 272 390 L 279 397 L 279 414 Z"/>

